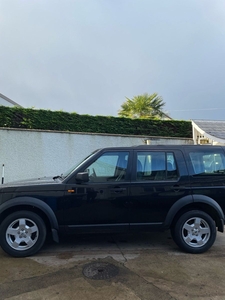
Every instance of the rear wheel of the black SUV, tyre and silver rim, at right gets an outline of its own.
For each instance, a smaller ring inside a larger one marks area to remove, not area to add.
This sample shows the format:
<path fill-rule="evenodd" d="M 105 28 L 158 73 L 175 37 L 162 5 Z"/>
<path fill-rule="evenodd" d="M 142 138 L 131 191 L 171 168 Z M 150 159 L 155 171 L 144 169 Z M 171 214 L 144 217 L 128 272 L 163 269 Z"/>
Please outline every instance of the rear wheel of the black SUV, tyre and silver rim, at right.
<path fill-rule="evenodd" d="M 192 210 L 184 213 L 171 229 L 175 243 L 185 252 L 203 253 L 216 239 L 216 224 L 205 212 Z"/>

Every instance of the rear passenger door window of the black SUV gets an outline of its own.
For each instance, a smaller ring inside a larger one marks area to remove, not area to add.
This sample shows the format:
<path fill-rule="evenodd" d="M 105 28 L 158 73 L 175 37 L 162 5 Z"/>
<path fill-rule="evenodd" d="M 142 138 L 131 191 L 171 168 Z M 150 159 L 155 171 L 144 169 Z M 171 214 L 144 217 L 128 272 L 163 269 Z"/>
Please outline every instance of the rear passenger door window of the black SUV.
<path fill-rule="evenodd" d="M 174 180 L 178 178 L 172 152 L 138 152 L 137 180 Z"/>

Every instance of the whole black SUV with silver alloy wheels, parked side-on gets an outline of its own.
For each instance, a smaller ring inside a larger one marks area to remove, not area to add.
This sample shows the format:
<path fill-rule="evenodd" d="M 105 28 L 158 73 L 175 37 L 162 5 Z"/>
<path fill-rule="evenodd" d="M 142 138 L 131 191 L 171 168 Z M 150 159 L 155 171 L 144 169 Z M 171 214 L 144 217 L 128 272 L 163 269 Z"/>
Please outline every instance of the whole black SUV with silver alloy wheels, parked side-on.
<path fill-rule="evenodd" d="M 99 149 L 51 178 L 0 188 L 0 245 L 35 254 L 60 234 L 171 230 L 186 252 L 202 253 L 224 230 L 225 147 Z"/>

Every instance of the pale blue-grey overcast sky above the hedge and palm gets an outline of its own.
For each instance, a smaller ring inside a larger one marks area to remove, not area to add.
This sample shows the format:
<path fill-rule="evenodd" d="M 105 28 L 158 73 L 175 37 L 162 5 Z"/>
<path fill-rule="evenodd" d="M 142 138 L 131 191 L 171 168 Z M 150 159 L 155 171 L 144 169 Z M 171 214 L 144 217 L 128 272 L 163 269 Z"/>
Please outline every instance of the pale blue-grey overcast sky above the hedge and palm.
<path fill-rule="evenodd" d="M 117 116 L 158 93 L 174 119 L 225 119 L 225 1 L 0 0 L 0 93 Z"/>

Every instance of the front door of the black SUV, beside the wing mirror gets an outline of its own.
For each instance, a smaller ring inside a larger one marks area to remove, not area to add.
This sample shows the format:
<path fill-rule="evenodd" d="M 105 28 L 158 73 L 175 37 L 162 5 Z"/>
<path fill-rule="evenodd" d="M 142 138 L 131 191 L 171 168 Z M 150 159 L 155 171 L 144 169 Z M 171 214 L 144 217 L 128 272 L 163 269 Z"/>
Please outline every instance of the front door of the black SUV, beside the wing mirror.
<path fill-rule="evenodd" d="M 124 231 L 128 229 L 130 152 L 103 151 L 79 172 L 89 181 L 66 185 L 65 225 L 74 232 Z"/>

